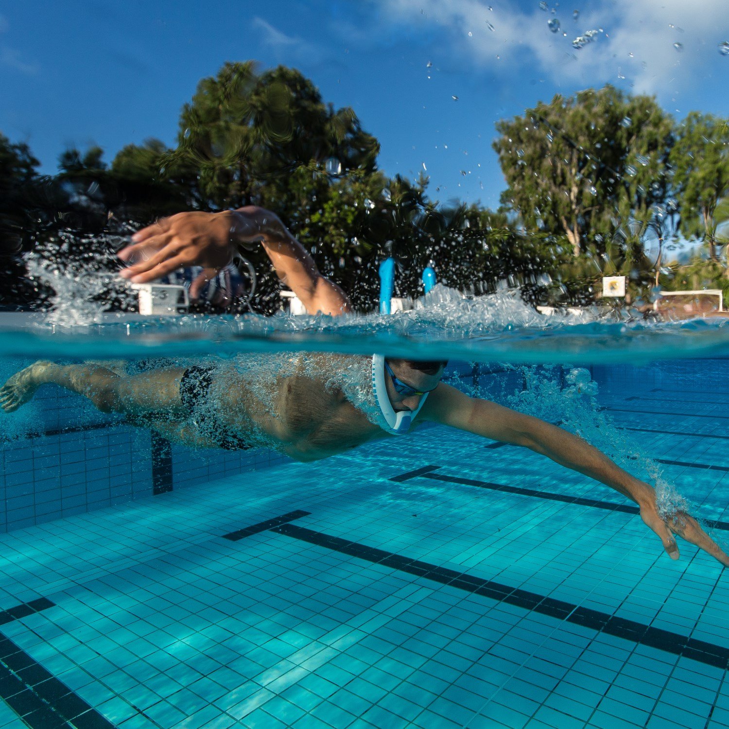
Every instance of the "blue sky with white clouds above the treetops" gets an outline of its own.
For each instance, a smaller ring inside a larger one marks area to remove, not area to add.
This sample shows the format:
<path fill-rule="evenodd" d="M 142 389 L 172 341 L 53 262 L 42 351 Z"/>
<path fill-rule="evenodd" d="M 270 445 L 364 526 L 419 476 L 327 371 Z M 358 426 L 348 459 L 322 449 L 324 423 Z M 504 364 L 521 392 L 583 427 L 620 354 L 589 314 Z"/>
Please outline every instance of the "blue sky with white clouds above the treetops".
<path fill-rule="evenodd" d="M 0 7 L 0 131 L 46 172 L 71 144 L 100 144 L 107 160 L 147 137 L 171 144 L 198 80 L 254 58 L 352 106 L 387 174 L 425 165 L 433 198 L 495 207 L 496 120 L 606 82 L 679 119 L 726 115 L 726 40 L 725 0 L 28 0 Z"/>

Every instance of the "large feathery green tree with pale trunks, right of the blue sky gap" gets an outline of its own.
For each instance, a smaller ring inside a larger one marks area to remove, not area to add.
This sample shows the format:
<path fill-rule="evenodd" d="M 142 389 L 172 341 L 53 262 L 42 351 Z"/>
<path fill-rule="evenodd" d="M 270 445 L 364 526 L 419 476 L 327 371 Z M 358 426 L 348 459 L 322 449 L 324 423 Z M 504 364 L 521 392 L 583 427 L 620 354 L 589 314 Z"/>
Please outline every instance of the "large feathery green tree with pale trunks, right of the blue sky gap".
<path fill-rule="evenodd" d="M 496 123 L 502 203 L 527 230 L 566 235 L 575 255 L 604 252 L 621 222 L 647 222 L 666 197 L 672 128 L 654 98 L 610 85 L 539 102 Z"/>

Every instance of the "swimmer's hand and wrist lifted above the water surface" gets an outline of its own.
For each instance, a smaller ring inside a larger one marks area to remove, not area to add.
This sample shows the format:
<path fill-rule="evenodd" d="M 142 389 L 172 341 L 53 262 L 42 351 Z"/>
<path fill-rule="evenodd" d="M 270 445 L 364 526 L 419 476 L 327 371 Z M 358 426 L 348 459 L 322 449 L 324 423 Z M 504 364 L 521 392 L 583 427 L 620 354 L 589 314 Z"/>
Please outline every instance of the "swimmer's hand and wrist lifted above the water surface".
<path fill-rule="evenodd" d="M 128 263 L 120 276 L 147 284 L 178 268 L 202 266 L 203 273 L 190 286 L 190 296 L 196 298 L 206 281 L 233 260 L 237 246 L 252 247 L 279 227 L 283 225 L 275 214 L 254 206 L 179 213 L 132 235 L 132 243 L 117 254 Z"/>

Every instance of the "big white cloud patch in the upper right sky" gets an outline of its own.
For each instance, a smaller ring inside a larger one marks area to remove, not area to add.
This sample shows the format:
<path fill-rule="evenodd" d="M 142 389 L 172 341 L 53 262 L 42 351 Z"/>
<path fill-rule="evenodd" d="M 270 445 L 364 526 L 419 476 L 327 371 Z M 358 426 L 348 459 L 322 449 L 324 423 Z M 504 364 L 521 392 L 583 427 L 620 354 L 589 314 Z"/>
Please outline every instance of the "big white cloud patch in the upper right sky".
<path fill-rule="evenodd" d="M 373 0 L 386 22 L 440 26 L 451 52 L 474 66 L 507 74 L 532 66 L 570 86 L 631 83 L 636 93 L 670 95 L 694 83 L 727 40 L 717 35 L 725 25 L 726 0 L 612 0 L 594 9 L 590 4 L 577 20 L 572 6 L 553 15 L 539 9 L 537 0 L 527 12 L 515 0 L 491 1 L 493 11 L 479 0 Z M 560 21 L 558 33 L 547 27 L 550 18 Z M 576 36 L 593 29 L 603 32 L 579 50 L 572 47 Z"/>

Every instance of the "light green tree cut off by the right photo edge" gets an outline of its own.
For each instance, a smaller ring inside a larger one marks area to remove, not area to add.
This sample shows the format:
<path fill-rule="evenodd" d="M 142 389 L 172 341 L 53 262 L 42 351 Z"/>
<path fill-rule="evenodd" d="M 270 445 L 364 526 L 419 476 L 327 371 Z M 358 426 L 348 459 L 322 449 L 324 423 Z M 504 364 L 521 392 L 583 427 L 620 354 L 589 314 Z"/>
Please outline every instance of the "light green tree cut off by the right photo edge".
<path fill-rule="evenodd" d="M 717 217 L 717 206 L 729 194 L 727 120 L 712 114 L 688 114 L 677 130 L 670 161 L 681 210 L 681 232 L 687 238 L 703 240 L 709 258 L 715 261 L 717 226 L 726 219 Z"/>

